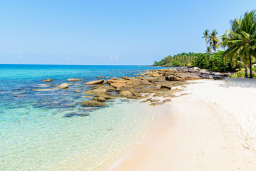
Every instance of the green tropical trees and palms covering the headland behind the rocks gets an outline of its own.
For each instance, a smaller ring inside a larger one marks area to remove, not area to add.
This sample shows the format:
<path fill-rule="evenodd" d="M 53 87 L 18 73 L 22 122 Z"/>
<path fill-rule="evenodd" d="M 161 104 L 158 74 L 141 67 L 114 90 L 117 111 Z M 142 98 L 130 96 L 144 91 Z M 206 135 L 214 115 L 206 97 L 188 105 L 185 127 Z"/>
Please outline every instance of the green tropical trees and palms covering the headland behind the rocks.
<path fill-rule="evenodd" d="M 246 12 L 240 19 L 230 21 L 231 29 L 218 37 L 213 29 L 203 32 L 205 38 L 205 53 L 180 53 L 166 56 L 161 61 L 155 61 L 156 66 L 197 66 L 210 71 L 235 71 L 235 76 L 248 77 L 247 68 L 250 68 L 250 78 L 253 78 L 256 69 L 252 64 L 256 62 L 256 11 Z M 217 50 L 218 48 L 225 51 Z M 213 52 L 214 51 L 214 52 Z M 243 68 L 243 69 L 242 69 Z M 255 70 L 255 71 L 254 71 Z M 243 73 L 244 72 L 244 73 Z"/>

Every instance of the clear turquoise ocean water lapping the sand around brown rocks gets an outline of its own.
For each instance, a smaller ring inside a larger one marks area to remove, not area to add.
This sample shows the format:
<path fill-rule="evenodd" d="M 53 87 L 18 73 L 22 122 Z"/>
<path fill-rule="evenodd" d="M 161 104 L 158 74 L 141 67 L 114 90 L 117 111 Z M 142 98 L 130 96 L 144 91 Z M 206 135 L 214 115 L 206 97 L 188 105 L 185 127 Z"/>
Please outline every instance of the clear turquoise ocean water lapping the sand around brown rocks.
<path fill-rule="evenodd" d="M 98 76 L 133 76 L 148 66 L 0 65 L 0 170 L 102 170 L 143 135 L 150 106 L 116 98 L 83 107 L 83 85 Z M 51 78 L 51 83 L 43 83 Z M 68 78 L 67 90 L 53 88 Z"/>

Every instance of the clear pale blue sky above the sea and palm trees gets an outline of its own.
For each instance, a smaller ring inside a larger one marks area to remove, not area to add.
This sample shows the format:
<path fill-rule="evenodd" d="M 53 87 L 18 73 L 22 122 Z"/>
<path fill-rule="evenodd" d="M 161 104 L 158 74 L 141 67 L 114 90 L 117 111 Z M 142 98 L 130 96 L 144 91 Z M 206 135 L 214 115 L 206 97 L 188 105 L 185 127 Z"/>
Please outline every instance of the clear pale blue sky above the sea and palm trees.
<path fill-rule="evenodd" d="M 147 65 L 205 52 L 256 1 L 1 1 L 0 63 Z"/>

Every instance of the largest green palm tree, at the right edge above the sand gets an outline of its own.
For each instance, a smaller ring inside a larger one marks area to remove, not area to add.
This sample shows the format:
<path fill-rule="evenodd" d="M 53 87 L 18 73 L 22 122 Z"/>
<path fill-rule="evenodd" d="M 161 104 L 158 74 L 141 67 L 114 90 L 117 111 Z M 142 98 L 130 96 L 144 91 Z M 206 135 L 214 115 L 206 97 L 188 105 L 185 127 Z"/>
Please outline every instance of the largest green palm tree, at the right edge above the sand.
<path fill-rule="evenodd" d="M 250 68 L 252 78 L 252 58 L 255 58 L 256 51 L 256 14 L 255 11 L 246 12 L 244 17 L 230 22 L 231 31 L 226 31 L 222 37 L 222 47 L 228 47 L 224 56 L 224 63 L 231 59 L 232 67 L 240 59 L 244 66 Z M 247 69 L 247 68 L 246 68 Z"/>

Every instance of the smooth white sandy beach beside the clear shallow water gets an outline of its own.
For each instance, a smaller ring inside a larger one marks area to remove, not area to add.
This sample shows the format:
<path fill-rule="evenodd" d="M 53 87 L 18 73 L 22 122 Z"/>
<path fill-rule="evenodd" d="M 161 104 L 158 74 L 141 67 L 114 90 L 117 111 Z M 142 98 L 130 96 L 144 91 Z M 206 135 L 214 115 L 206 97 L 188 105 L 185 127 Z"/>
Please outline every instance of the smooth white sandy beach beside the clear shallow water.
<path fill-rule="evenodd" d="M 190 83 L 108 171 L 255 170 L 256 79 Z"/>

